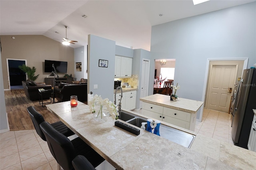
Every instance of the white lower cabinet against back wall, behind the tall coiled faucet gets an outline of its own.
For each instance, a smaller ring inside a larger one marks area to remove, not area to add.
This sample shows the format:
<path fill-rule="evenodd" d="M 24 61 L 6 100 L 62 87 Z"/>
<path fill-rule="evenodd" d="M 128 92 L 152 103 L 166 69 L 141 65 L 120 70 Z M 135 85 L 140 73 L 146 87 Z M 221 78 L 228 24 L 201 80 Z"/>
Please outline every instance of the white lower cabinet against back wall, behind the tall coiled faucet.
<path fill-rule="evenodd" d="M 116 105 L 120 102 L 121 93 L 116 93 Z M 133 110 L 136 108 L 136 90 L 123 93 L 121 108 Z"/>

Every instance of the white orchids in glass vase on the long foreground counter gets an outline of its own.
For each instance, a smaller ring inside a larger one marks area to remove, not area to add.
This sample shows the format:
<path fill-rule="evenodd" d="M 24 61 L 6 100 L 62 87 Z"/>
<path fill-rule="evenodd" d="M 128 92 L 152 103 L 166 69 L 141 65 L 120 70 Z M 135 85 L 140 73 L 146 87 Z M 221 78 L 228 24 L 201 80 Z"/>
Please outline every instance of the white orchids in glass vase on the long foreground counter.
<path fill-rule="evenodd" d="M 116 111 L 116 105 L 108 98 L 102 99 L 101 96 L 94 95 L 92 100 L 89 101 L 89 107 L 90 111 L 95 114 L 95 118 L 102 119 L 108 113 L 113 119 L 118 119 L 119 113 Z"/>

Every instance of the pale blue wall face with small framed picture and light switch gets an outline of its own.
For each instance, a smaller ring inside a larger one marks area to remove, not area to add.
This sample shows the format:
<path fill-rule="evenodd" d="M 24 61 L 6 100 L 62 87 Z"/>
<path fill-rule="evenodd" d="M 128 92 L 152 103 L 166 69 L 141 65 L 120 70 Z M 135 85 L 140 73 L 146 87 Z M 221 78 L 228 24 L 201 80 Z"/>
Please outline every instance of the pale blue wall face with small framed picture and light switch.
<path fill-rule="evenodd" d="M 116 42 L 88 35 L 88 93 L 113 101 Z M 108 67 L 99 67 L 99 59 L 108 60 Z M 98 89 L 94 89 L 98 85 Z"/>

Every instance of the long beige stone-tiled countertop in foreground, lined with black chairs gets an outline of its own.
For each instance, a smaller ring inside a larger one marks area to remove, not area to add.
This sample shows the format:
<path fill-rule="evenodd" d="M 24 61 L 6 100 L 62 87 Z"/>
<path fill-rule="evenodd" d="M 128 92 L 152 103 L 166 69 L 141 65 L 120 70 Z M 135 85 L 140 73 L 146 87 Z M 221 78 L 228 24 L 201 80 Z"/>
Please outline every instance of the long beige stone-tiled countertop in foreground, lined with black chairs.
<path fill-rule="evenodd" d="M 219 159 L 206 155 L 210 152 L 207 146 L 201 147 L 206 148 L 206 154 L 201 153 L 201 150 L 196 149 L 196 146 L 201 145 L 202 142 L 208 142 L 203 136 L 200 136 L 198 140 L 196 137 L 194 140 L 192 147 L 195 149 L 189 149 L 140 128 L 140 134 L 136 136 L 114 126 L 115 120 L 111 117 L 108 117 L 105 123 L 97 124 L 88 105 L 81 102 L 78 102 L 78 106 L 75 108 L 70 107 L 70 102 L 54 103 L 46 105 L 46 107 L 118 170 L 256 168 L 256 153 L 239 148 L 239 151 L 244 154 L 233 156 L 233 151 L 236 150 L 232 147 L 237 146 L 230 144 L 219 146 L 224 152 L 221 155 L 221 150 L 219 150 Z M 129 112 L 149 118 L 139 113 Z M 162 124 L 194 134 L 190 130 L 169 123 L 162 122 Z M 229 162 L 232 156 L 232 161 Z M 233 164 L 234 161 L 239 164 Z"/>

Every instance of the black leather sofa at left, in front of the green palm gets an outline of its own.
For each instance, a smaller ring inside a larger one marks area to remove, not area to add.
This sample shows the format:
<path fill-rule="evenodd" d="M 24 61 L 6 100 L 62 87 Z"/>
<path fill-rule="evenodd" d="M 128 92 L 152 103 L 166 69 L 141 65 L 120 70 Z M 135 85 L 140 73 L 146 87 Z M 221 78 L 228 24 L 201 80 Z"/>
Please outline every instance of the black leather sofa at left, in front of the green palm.
<path fill-rule="evenodd" d="M 50 90 L 52 89 L 52 85 L 46 85 L 45 83 L 35 83 L 34 81 L 28 79 L 26 81 L 22 81 L 22 86 L 25 91 L 25 95 L 31 101 L 39 100 L 38 89 Z M 43 99 L 50 99 L 51 94 L 46 93 L 43 95 Z"/>

